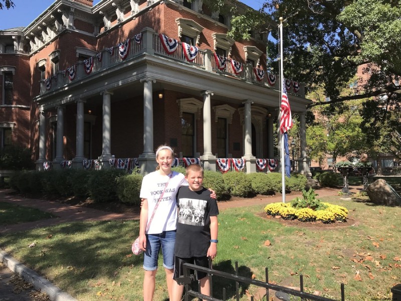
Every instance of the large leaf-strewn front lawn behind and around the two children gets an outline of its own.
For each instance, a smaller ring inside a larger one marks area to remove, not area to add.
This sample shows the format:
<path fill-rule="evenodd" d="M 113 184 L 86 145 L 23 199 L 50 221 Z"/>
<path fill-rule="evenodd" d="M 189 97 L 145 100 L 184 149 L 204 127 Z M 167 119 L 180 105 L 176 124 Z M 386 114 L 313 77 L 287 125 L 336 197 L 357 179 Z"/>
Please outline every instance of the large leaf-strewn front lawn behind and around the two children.
<path fill-rule="evenodd" d="M 390 288 L 401 279 L 401 208 L 339 196 L 323 200 L 349 210 L 346 226 L 287 226 L 261 216 L 264 206 L 224 210 L 214 268 L 234 273 L 238 261 L 241 275 L 264 280 L 268 267 L 270 281 L 297 286 L 303 274 L 307 289 L 336 299 L 340 283 L 349 301 L 390 298 Z M 137 234 L 137 221 L 69 223 L 0 236 L 0 246 L 79 300 L 139 300 L 142 257 L 130 251 Z M 36 246 L 28 248 L 32 242 Z M 155 300 L 167 297 L 164 278 L 160 269 Z M 223 287 L 234 297 L 235 283 L 214 277 L 213 284 L 216 297 L 222 298 Z M 241 300 L 247 298 L 242 293 Z"/>

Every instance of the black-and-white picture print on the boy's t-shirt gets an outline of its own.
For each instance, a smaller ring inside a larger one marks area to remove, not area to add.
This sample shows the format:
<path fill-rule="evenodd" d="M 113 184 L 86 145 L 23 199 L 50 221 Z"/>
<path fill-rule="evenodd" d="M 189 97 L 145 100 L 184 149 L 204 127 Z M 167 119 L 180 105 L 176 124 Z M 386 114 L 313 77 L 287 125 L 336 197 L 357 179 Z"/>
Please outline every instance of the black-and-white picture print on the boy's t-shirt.
<path fill-rule="evenodd" d="M 205 226 L 205 208 L 208 201 L 196 199 L 179 199 L 178 223 Z"/>

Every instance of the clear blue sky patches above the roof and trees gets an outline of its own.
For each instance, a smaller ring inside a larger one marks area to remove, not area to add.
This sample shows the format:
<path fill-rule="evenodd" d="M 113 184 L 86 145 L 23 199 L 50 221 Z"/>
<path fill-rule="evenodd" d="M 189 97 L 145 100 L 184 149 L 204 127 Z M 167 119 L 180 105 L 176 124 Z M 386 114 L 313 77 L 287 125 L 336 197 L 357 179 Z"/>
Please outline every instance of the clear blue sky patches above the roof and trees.
<path fill-rule="evenodd" d="M 0 30 L 26 27 L 42 14 L 55 0 L 13 0 L 16 7 L 10 10 L 0 10 Z M 94 0 L 93 4 L 100 0 Z M 259 9 L 263 0 L 242 0 L 246 5 Z"/>

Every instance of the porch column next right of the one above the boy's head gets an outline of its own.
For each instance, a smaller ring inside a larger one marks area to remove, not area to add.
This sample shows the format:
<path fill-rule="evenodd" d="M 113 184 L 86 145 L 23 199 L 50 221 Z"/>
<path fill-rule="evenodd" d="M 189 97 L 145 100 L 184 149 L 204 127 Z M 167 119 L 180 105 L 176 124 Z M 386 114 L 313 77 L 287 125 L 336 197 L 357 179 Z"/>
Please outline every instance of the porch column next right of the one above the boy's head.
<path fill-rule="evenodd" d="M 244 107 L 244 150 L 242 157 L 246 161 L 247 174 L 256 172 L 256 157 L 252 155 L 252 111 L 253 101 L 245 100 Z"/>

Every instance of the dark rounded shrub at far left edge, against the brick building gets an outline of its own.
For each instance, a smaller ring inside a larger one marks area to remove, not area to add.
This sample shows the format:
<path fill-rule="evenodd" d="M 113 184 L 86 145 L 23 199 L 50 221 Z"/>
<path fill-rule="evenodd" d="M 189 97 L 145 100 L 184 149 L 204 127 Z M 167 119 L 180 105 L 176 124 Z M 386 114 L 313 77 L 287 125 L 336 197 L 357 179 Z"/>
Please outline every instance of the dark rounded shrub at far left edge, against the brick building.
<path fill-rule="evenodd" d="M 15 171 L 35 169 L 31 150 L 18 145 L 10 145 L 1 149 L 0 169 Z"/>

